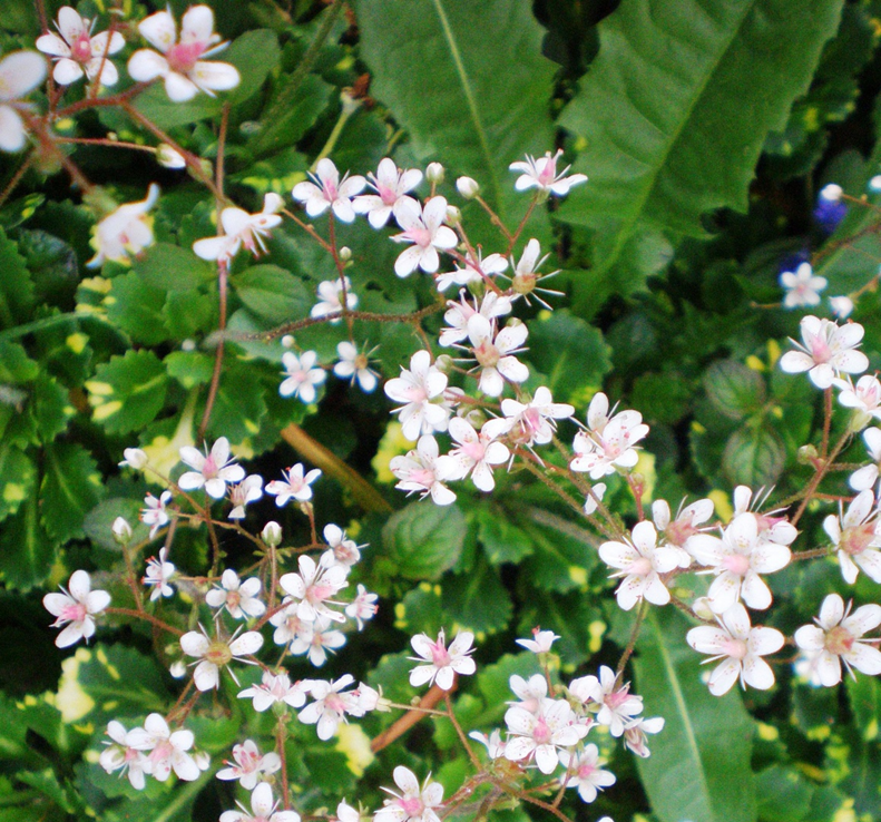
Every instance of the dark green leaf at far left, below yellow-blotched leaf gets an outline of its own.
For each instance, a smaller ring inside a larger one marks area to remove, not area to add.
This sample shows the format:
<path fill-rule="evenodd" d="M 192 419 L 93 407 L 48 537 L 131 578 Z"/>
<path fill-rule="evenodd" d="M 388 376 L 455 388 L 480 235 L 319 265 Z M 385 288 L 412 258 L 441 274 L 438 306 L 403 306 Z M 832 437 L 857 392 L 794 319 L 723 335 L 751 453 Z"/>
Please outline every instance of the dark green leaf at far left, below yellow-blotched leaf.
<path fill-rule="evenodd" d="M 106 493 L 95 460 L 82 446 L 59 442 L 45 449 L 46 474 L 40 487 L 41 520 L 59 542 L 85 536 L 86 515 Z"/>

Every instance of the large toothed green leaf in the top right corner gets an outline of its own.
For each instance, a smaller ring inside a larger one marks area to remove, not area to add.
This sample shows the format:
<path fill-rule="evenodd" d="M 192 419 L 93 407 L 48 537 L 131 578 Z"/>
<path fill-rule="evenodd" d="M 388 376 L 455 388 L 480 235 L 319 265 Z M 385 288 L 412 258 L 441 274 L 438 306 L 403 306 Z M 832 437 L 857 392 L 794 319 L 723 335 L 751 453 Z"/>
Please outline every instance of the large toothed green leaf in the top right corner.
<path fill-rule="evenodd" d="M 665 236 L 746 211 L 770 130 L 786 125 L 835 32 L 841 0 L 626 0 L 560 123 L 590 179 L 564 219 L 595 229 L 594 265 L 624 290 L 663 267 Z"/>

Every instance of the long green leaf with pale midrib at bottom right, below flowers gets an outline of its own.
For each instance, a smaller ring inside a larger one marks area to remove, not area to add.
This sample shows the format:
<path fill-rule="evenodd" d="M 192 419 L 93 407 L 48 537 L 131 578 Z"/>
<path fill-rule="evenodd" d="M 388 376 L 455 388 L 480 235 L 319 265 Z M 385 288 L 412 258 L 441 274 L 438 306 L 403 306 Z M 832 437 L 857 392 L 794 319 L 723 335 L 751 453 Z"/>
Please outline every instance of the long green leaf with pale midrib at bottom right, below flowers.
<path fill-rule="evenodd" d="M 685 642 L 691 626 L 672 608 L 652 608 L 637 642 L 636 692 L 646 716 L 663 716 L 637 759 L 643 786 L 660 822 L 754 822 L 756 791 L 750 767 L 753 721 L 740 693 L 713 696 Z"/>

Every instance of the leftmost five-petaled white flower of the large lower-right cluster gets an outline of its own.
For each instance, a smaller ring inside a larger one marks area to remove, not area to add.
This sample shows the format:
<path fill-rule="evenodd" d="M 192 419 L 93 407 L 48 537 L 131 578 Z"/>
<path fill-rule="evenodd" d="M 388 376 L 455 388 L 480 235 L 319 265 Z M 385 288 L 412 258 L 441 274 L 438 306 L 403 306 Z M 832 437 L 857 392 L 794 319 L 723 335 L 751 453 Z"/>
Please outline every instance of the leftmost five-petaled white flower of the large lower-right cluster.
<path fill-rule="evenodd" d="M 615 591 L 624 610 L 630 610 L 643 598 L 654 605 L 669 601 L 669 591 L 659 575 L 678 567 L 679 556 L 669 546 L 657 546 L 655 526 L 648 520 L 634 526 L 632 542 L 604 542 L 599 557 L 619 569 L 613 577 L 624 577 Z"/>

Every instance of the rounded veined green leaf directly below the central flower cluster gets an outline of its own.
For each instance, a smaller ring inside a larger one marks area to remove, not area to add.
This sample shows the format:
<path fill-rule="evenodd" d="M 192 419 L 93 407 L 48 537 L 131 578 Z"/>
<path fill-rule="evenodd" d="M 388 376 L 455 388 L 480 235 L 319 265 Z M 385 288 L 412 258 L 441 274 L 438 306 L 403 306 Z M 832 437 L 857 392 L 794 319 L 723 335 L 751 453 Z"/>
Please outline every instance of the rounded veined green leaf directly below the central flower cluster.
<path fill-rule="evenodd" d="M 382 545 L 397 576 L 437 579 L 458 561 L 467 531 L 458 506 L 411 502 L 389 518 Z"/>

